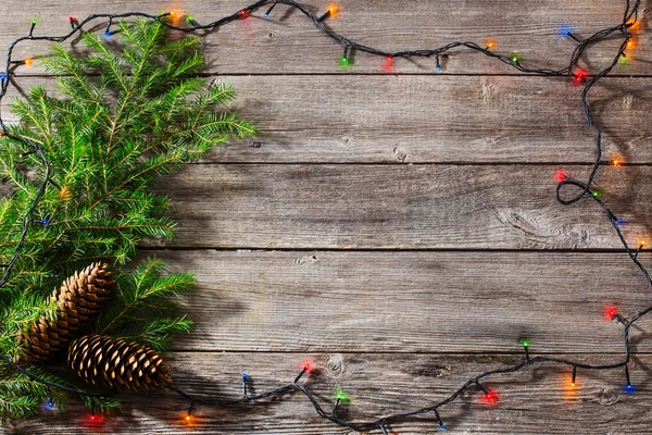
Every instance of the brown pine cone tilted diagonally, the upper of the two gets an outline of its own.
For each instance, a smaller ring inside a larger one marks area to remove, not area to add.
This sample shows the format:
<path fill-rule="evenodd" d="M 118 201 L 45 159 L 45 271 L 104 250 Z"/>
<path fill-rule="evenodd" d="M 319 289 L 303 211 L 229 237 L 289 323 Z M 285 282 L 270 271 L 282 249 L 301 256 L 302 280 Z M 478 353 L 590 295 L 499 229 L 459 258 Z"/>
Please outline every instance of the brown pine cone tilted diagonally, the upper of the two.
<path fill-rule="evenodd" d="M 25 359 L 42 362 L 84 334 L 109 297 L 111 275 L 108 264 L 92 263 L 64 281 L 59 291 L 54 289 L 49 300 L 57 301 L 57 321 L 41 318 L 23 335 Z"/>

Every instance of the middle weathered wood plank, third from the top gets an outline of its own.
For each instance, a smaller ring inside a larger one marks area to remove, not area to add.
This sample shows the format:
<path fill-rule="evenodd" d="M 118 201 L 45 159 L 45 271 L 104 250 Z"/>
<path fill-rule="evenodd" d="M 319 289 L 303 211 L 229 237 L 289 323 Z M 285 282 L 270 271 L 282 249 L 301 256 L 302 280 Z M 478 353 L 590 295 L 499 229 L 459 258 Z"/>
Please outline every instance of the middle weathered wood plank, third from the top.
<path fill-rule="evenodd" d="M 156 189 L 176 208 L 178 238 L 166 246 L 177 248 L 619 249 L 594 201 L 556 201 L 556 170 L 197 164 Z M 652 186 L 641 183 L 651 171 L 609 166 L 598 179 L 634 245 L 652 229 Z"/>

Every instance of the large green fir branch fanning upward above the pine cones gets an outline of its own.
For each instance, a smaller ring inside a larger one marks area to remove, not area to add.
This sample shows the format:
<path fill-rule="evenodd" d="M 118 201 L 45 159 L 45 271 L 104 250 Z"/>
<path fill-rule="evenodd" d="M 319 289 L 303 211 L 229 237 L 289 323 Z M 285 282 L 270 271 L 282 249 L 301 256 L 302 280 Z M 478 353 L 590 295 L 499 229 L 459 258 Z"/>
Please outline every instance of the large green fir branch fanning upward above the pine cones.
<path fill-rule="evenodd" d="M 155 176 L 255 132 L 221 110 L 234 97 L 229 85 L 206 86 L 195 76 L 205 69 L 198 37 L 168 41 L 164 26 L 147 21 L 120 26 L 121 45 L 85 35 L 91 55 L 53 48 L 45 62 L 62 75 L 62 97 L 37 87 L 12 105 L 21 122 L 9 126 L 11 135 L 43 145 L 62 187 L 48 188 L 37 210 L 51 222 L 38 238 L 28 234 L 28 253 L 11 283 L 16 287 L 47 290 L 29 278 L 39 263 L 53 277 L 65 276 L 93 256 L 124 264 L 143 237 L 173 237 L 174 223 L 162 216 L 167 201 L 147 194 Z M 99 77 L 89 76 L 96 71 Z M 23 210 L 36 192 L 26 174 L 41 164 L 23 158 L 16 151 L 23 144 L 11 135 L 0 141 L 0 176 L 16 188 L 0 213 L 0 227 L 11 229 L 7 241 L 16 233 L 13 210 Z M 8 258 L 10 247 L 0 244 L 0 257 Z"/>

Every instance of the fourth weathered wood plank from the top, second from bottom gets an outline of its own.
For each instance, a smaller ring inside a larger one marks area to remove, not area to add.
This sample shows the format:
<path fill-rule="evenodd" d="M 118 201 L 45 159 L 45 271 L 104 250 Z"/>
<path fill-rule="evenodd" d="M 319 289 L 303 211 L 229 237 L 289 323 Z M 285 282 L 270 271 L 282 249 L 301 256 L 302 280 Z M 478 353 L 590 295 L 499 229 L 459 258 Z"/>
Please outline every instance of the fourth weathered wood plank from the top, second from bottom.
<path fill-rule="evenodd" d="M 604 307 L 628 315 L 650 304 L 620 253 L 145 254 L 199 281 L 184 310 L 197 328 L 179 350 L 505 352 L 529 336 L 547 352 L 619 352 L 623 330 Z"/>

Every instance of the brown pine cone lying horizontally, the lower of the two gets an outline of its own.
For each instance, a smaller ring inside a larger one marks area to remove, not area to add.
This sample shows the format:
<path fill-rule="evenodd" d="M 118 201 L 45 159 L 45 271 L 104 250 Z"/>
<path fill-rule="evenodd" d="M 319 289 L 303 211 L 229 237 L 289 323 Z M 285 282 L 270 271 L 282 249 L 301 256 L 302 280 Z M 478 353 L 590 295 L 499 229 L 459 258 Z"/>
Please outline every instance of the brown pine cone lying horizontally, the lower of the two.
<path fill-rule="evenodd" d="M 85 335 L 68 347 L 67 362 L 79 377 L 96 386 L 146 390 L 172 382 L 172 366 L 147 346 L 120 338 Z"/>

